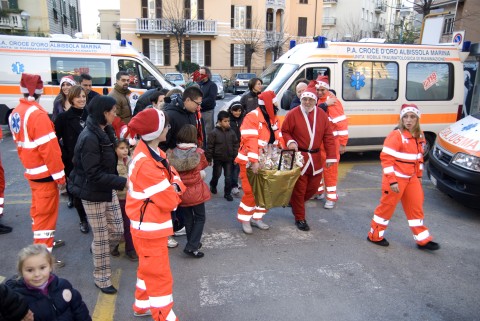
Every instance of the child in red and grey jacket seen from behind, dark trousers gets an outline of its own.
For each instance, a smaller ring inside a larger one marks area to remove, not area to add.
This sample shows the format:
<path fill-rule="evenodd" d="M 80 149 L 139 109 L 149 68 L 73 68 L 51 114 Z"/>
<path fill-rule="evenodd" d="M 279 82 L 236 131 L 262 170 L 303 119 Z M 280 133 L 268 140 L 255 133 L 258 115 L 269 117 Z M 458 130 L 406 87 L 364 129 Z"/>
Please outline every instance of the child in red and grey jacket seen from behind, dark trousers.
<path fill-rule="evenodd" d="M 205 225 L 205 202 L 210 199 L 210 192 L 203 181 L 203 170 L 208 166 L 208 162 L 203 150 L 197 146 L 195 126 L 187 124 L 180 128 L 177 147 L 168 150 L 167 158 L 187 187 L 181 196 L 182 203 L 177 208 L 187 232 L 187 245 L 183 252 L 191 257 L 201 258 L 204 255 L 199 249 L 202 247 L 200 239 Z"/>

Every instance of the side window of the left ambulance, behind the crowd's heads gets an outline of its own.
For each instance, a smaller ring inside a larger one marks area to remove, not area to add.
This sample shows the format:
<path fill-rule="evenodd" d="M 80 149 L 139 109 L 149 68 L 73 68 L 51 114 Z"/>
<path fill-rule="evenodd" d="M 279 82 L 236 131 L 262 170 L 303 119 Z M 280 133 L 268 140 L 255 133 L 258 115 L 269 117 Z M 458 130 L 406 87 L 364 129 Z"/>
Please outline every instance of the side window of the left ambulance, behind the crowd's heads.
<path fill-rule="evenodd" d="M 92 76 L 93 86 L 111 86 L 111 68 L 109 59 L 52 57 L 52 85 L 60 85 L 63 76 L 72 75 L 80 81 L 80 74 Z"/>

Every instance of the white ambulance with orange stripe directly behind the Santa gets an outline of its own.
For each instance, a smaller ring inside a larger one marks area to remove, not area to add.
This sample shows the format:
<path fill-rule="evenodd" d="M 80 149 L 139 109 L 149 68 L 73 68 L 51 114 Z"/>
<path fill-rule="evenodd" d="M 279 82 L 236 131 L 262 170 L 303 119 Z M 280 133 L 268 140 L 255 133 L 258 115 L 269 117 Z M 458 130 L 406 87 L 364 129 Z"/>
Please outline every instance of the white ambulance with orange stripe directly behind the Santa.
<path fill-rule="evenodd" d="M 328 76 L 348 118 L 347 151 L 381 150 L 398 124 L 402 104 L 417 104 L 427 155 L 436 134 L 461 114 L 467 56 L 454 45 L 329 42 L 318 37 L 318 42 L 291 48 L 260 78 L 265 90 L 281 100 L 282 116 L 298 79 Z"/>

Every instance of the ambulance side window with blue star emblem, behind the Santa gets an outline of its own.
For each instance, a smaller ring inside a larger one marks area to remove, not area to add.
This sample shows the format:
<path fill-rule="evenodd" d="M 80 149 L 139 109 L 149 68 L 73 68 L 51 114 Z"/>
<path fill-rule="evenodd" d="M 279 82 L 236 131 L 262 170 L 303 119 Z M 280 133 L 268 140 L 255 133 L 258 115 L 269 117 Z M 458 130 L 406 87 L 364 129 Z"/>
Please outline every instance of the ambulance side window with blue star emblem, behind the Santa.
<path fill-rule="evenodd" d="M 344 61 L 343 100 L 397 100 L 398 64 L 384 61 Z"/>

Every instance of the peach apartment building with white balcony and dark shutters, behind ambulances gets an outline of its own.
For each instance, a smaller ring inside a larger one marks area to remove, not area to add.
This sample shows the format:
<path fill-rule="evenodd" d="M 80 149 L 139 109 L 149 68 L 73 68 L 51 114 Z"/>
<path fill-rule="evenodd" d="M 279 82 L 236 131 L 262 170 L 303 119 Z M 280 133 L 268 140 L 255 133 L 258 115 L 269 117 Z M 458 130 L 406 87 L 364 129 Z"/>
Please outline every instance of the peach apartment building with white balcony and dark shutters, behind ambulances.
<path fill-rule="evenodd" d="M 260 74 L 290 40 L 321 33 L 322 1 L 120 0 L 121 37 L 163 72 L 182 60 L 230 77 Z M 295 13 L 295 14 L 292 14 Z M 251 63 L 249 63 L 251 57 Z"/>

